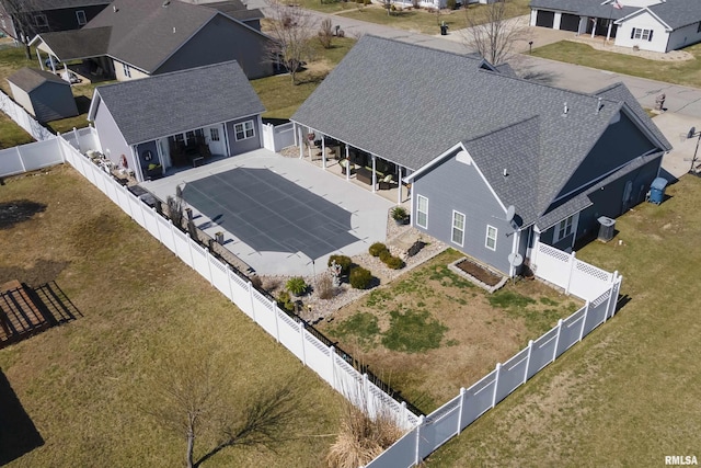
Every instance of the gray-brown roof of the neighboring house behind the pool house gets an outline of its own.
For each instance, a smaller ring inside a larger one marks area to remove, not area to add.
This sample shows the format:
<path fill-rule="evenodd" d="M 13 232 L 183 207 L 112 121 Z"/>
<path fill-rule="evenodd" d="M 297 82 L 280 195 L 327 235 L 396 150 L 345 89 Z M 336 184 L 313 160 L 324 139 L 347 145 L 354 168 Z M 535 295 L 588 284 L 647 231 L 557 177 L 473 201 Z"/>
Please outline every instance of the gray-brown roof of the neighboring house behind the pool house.
<path fill-rule="evenodd" d="M 114 0 L 112 7 L 101 11 L 81 30 L 44 33 L 38 37 L 61 60 L 108 55 L 151 75 L 220 14 L 209 5 L 177 0 L 164 4 L 163 0 Z M 94 37 L 90 30 L 97 30 Z"/>

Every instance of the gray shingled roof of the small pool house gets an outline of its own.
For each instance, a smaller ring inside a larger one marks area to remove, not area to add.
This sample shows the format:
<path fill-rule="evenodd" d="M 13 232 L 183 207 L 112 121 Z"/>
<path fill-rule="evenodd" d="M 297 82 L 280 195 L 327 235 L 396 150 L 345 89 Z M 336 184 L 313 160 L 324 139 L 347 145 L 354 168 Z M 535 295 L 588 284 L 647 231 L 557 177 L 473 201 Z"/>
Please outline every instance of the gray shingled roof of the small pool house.
<path fill-rule="evenodd" d="M 97 87 L 96 99 L 129 145 L 265 112 L 235 61 Z"/>

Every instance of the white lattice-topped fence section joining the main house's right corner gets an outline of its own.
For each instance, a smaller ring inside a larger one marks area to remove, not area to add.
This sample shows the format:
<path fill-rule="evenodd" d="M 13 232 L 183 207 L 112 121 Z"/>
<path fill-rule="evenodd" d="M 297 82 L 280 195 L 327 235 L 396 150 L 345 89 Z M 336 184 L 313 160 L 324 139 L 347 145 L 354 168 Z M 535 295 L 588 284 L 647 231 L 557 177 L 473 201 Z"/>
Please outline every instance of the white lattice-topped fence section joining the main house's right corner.
<path fill-rule="evenodd" d="M 616 282 L 618 272 L 609 273 L 541 242 L 532 249 L 531 269 L 536 276 L 584 300 L 594 300 Z"/>

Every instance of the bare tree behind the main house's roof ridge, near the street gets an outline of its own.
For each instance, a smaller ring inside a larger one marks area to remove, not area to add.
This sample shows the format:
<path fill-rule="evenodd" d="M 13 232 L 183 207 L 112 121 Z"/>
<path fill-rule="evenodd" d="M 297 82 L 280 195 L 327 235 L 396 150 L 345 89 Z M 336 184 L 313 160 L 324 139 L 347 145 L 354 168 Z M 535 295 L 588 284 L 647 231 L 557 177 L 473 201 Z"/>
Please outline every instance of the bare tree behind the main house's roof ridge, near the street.
<path fill-rule="evenodd" d="M 506 0 L 496 0 L 487 5 L 466 8 L 466 45 L 492 65 L 499 65 L 514 54 L 514 45 L 525 41 L 527 30 L 515 19 L 508 18 Z"/>

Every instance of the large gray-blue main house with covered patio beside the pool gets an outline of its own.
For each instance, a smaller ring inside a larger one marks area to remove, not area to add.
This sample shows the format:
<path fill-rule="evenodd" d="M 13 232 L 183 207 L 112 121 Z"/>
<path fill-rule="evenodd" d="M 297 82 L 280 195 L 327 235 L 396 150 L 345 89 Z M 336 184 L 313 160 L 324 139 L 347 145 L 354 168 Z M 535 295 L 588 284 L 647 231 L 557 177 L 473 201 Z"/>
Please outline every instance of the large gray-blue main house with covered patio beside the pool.
<path fill-rule="evenodd" d="M 374 36 L 291 121 L 410 182 L 414 227 L 507 274 L 537 240 L 571 250 L 645 199 L 671 149 L 621 83 L 577 93 Z"/>

